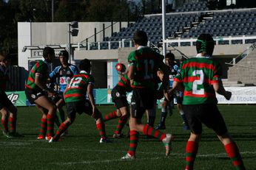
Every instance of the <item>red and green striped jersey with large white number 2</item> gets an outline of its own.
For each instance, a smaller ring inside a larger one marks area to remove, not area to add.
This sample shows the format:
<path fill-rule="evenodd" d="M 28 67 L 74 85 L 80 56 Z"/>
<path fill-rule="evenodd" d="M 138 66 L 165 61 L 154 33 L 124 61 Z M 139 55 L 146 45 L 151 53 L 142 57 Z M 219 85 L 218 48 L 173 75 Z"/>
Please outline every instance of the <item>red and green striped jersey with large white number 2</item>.
<path fill-rule="evenodd" d="M 221 67 L 209 57 L 184 60 L 176 82 L 183 83 L 183 105 L 217 104 L 213 83 L 221 81 Z"/>

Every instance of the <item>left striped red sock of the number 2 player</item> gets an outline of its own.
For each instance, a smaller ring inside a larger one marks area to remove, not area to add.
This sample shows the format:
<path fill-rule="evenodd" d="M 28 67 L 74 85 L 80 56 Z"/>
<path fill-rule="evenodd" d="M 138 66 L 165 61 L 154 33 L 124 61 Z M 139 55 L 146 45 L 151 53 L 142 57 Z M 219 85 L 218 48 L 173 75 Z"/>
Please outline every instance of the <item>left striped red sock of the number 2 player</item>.
<path fill-rule="evenodd" d="M 195 141 L 186 142 L 186 170 L 193 169 L 195 156 L 198 153 L 198 143 Z"/>

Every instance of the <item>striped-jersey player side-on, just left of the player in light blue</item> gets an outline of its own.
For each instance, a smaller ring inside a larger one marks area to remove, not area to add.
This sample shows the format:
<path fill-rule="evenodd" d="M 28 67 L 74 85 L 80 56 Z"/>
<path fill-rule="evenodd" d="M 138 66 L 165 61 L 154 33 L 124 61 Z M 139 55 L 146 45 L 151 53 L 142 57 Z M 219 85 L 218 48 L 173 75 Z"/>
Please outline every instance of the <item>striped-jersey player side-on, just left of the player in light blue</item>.
<path fill-rule="evenodd" d="M 56 106 L 48 96 L 55 96 L 55 91 L 47 88 L 49 79 L 48 63 L 53 63 L 55 57 L 54 49 L 45 47 L 43 51 L 44 60 L 39 60 L 30 70 L 25 85 L 25 93 L 31 104 L 36 104 L 38 110 L 43 113 L 41 117 L 41 129 L 38 139 L 50 140 L 53 137 L 53 125 L 55 119 Z"/>

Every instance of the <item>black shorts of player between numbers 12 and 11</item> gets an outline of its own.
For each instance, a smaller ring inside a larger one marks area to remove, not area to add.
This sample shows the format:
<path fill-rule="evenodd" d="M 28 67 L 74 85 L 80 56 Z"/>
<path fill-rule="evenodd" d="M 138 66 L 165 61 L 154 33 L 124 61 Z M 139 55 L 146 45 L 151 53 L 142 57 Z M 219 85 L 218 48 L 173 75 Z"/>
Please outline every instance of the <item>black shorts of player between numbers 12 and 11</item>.
<path fill-rule="evenodd" d="M 111 91 L 112 102 L 115 103 L 115 107 L 120 109 L 121 107 L 128 107 L 127 92 L 122 90 L 121 87 L 115 86 Z"/>

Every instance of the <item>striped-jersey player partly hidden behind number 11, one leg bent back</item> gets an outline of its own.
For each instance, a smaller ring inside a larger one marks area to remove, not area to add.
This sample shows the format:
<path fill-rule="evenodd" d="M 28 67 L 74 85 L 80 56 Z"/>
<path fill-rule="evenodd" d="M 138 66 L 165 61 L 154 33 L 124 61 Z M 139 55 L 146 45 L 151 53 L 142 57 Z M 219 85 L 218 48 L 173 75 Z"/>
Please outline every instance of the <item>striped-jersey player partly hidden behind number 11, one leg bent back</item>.
<path fill-rule="evenodd" d="M 113 138 L 121 138 L 121 131 L 129 118 L 127 92 L 131 92 L 132 88 L 129 78 L 127 77 L 125 65 L 123 63 L 117 63 L 115 69 L 118 71 L 118 74 L 121 75 L 120 81 L 111 91 L 112 102 L 115 103 L 117 110 L 105 115 L 104 121 L 109 121 L 112 118 L 119 118 L 118 126 L 116 127 Z"/>

